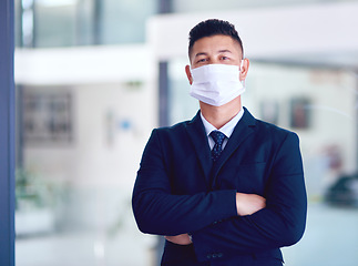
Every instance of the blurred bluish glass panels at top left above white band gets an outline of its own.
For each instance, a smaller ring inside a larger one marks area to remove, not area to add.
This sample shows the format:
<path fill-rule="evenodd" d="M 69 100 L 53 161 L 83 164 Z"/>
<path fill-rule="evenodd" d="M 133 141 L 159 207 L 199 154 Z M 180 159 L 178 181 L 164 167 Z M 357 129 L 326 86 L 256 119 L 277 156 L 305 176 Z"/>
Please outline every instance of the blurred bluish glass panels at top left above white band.
<path fill-rule="evenodd" d="M 143 43 L 156 1 L 16 0 L 18 47 Z"/>

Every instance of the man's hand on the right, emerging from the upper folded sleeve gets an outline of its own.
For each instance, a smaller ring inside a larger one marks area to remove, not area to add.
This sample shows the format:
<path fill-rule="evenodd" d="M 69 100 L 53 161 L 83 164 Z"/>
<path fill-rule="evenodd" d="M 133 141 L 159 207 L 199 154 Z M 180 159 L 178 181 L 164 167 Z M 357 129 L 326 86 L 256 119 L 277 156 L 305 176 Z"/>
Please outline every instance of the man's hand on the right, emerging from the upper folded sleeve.
<path fill-rule="evenodd" d="M 266 198 L 256 194 L 236 193 L 236 208 L 239 216 L 252 215 L 266 207 Z"/>

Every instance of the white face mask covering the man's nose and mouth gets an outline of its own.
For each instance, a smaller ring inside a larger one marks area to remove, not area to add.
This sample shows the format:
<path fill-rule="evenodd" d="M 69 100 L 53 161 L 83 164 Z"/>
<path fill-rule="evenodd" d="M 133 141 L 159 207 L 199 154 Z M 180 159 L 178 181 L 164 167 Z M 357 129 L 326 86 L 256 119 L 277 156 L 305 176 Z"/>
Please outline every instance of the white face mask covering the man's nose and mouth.
<path fill-rule="evenodd" d="M 245 91 L 238 78 L 239 66 L 237 65 L 206 64 L 191 72 L 193 83 L 190 94 L 209 105 L 224 105 Z"/>

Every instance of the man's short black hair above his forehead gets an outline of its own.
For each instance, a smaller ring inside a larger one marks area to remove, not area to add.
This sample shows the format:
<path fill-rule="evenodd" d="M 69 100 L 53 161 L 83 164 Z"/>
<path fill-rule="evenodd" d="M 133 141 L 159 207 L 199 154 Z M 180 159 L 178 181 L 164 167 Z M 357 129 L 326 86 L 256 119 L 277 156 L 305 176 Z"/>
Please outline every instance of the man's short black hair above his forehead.
<path fill-rule="evenodd" d="M 197 40 L 204 37 L 212 35 L 228 35 L 233 38 L 233 40 L 238 42 L 244 57 L 243 42 L 242 39 L 238 37 L 235 25 L 229 23 L 228 21 L 218 19 L 208 19 L 202 21 L 191 30 L 191 32 L 188 33 L 188 53 L 191 54 L 193 45 Z"/>

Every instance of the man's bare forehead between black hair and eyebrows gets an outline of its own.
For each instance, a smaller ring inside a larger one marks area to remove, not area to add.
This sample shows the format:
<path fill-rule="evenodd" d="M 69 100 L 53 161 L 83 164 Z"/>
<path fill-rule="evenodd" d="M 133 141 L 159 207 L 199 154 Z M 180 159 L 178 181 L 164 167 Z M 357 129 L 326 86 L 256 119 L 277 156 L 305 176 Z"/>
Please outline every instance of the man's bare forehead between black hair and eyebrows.
<path fill-rule="evenodd" d="M 218 53 L 219 51 L 228 50 L 232 53 L 241 54 L 241 45 L 239 43 L 234 40 L 232 37 L 228 35 L 212 35 L 212 37 L 204 37 L 198 39 L 192 50 L 190 57 L 195 57 L 197 53 Z"/>

